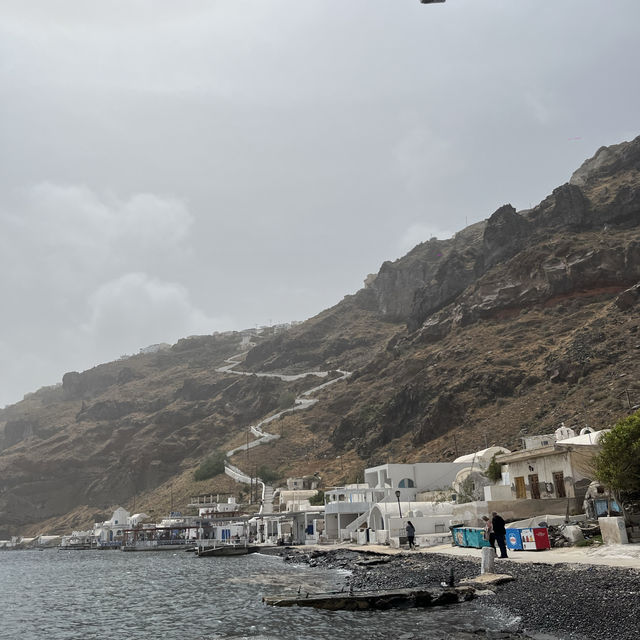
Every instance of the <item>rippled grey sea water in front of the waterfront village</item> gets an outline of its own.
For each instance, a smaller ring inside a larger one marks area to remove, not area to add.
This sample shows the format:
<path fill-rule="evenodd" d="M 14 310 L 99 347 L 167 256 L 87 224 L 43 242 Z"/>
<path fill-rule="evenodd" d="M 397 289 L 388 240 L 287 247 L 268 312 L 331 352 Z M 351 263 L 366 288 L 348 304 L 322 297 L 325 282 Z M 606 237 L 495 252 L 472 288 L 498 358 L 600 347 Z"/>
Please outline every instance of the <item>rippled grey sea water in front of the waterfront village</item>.
<path fill-rule="evenodd" d="M 446 608 L 331 612 L 267 607 L 263 595 L 339 590 L 344 573 L 260 554 L 196 558 L 185 552 L 0 553 L 3 640 L 455 637 L 504 629 L 481 602 Z"/>

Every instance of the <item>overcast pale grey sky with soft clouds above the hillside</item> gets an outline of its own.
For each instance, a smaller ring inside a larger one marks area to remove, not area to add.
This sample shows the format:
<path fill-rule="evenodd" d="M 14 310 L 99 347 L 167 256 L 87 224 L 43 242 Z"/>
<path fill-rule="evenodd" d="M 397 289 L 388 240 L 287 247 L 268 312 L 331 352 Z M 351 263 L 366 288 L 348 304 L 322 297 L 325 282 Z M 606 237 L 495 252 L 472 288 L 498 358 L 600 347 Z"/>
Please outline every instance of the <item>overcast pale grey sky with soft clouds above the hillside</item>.
<path fill-rule="evenodd" d="M 640 134 L 637 0 L 3 0 L 0 406 L 304 320 Z"/>

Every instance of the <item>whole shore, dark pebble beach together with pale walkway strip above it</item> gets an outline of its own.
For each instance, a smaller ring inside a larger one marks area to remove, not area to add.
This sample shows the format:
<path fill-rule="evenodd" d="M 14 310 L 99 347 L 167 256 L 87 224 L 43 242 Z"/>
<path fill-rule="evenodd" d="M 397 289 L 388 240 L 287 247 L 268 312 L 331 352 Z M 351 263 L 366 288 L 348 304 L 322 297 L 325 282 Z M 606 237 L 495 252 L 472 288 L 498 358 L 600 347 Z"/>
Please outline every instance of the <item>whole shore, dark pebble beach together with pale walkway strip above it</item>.
<path fill-rule="evenodd" d="M 640 546 L 629 550 L 630 557 L 620 557 L 621 546 L 604 552 L 602 548 L 512 552 L 515 557 L 497 560 L 496 572 L 515 580 L 492 588 L 475 602 L 519 622 L 503 636 L 486 632 L 486 637 L 638 638 Z M 436 586 L 451 572 L 458 584 L 480 574 L 479 549 L 443 547 L 417 551 L 353 545 L 285 547 L 278 555 L 288 562 L 348 570 L 346 586 L 355 591 Z M 478 631 L 476 637 L 485 633 Z"/>

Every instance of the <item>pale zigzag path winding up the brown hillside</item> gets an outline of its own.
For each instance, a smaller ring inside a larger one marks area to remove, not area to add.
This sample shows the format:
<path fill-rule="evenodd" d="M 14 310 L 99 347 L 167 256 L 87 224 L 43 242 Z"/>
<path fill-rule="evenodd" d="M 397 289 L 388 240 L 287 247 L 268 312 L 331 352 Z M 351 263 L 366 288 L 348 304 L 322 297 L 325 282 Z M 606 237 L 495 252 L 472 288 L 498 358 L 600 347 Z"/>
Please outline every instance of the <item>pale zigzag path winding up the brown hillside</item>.
<path fill-rule="evenodd" d="M 316 376 L 318 378 L 326 378 L 329 375 L 328 371 L 308 371 L 305 373 L 298 373 L 295 375 L 286 375 L 282 373 L 253 373 L 248 371 L 234 371 L 234 367 L 237 367 L 239 364 L 242 363 L 242 361 L 238 360 L 238 358 L 241 358 L 244 355 L 245 353 L 238 353 L 235 356 L 231 356 L 230 358 L 227 358 L 225 360 L 227 365 L 224 367 L 219 367 L 218 369 L 216 369 L 216 371 L 218 373 L 233 373 L 238 376 L 258 376 L 260 378 L 278 378 L 280 380 L 284 380 L 285 382 L 293 382 L 295 380 L 301 380 L 302 378 L 305 378 L 306 376 L 309 376 L 309 375 Z M 273 440 L 277 440 L 280 437 L 278 434 L 267 433 L 266 431 L 263 430 L 262 427 L 266 424 L 269 424 L 270 422 L 273 422 L 274 420 L 277 420 L 278 418 L 280 418 L 280 416 L 286 415 L 288 413 L 293 413 L 294 411 L 302 411 L 303 409 L 308 409 L 309 407 L 312 407 L 314 404 L 316 404 L 316 402 L 318 402 L 318 400 L 316 398 L 310 398 L 309 396 L 313 395 L 317 391 L 320 391 L 320 389 L 324 389 L 329 385 L 334 384 L 335 382 L 339 382 L 340 380 L 346 380 L 351 375 L 350 371 L 343 371 L 342 369 L 337 369 L 337 372 L 341 374 L 339 378 L 333 378 L 332 380 L 323 382 L 317 387 L 313 387 L 312 389 L 309 389 L 304 393 L 301 393 L 298 397 L 296 397 L 293 407 L 289 407 L 287 409 L 279 411 L 278 413 L 275 413 L 274 415 L 269 416 L 268 418 L 266 418 L 265 420 L 262 420 L 256 425 L 251 425 L 249 429 L 257 439 L 253 440 L 252 442 L 247 442 L 246 444 L 236 447 L 235 449 L 231 449 L 227 451 L 225 454 L 226 458 L 231 458 L 239 451 L 248 451 L 249 449 L 253 449 L 254 447 L 257 447 L 261 444 L 266 444 L 267 442 L 272 442 Z M 241 469 L 238 469 L 238 467 L 235 467 L 234 465 L 232 465 L 228 461 L 228 459 L 225 459 L 225 462 L 224 462 L 224 472 L 229 477 L 233 478 L 236 482 L 242 482 L 244 484 L 251 484 L 252 482 L 252 478 L 250 476 L 244 473 L 244 471 L 242 471 Z M 259 513 L 261 514 L 273 513 L 273 487 L 270 485 L 267 485 L 260 478 L 256 478 L 256 482 L 259 482 L 262 485 L 262 501 L 261 501 L 262 504 L 260 506 Z"/>

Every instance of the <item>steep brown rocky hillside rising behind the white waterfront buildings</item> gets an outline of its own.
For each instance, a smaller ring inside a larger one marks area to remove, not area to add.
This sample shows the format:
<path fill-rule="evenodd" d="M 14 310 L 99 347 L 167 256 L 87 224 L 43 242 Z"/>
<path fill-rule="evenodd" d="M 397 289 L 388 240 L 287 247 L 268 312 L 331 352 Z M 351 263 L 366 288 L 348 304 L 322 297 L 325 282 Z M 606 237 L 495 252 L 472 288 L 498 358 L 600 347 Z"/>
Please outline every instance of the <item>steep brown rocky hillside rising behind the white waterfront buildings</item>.
<path fill-rule="evenodd" d="M 282 438 L 236 456 L 281 477 L 355 480 L 387 460 L 447 460 L 560 422 L 610 425 L 640 403 L 640 138 L 600 149 L 538 206 L 431 239 L 353 296 L 264 337 L 247 372 L 346 369 Z M 216 449 L 313 386 L 216 371 L 240 337 L 71 373 L 0 411 L 0 534 L 80 526 L 116 503 L 161 512 Z M 246 488 L 244 488 L 246 491 Z"/>

